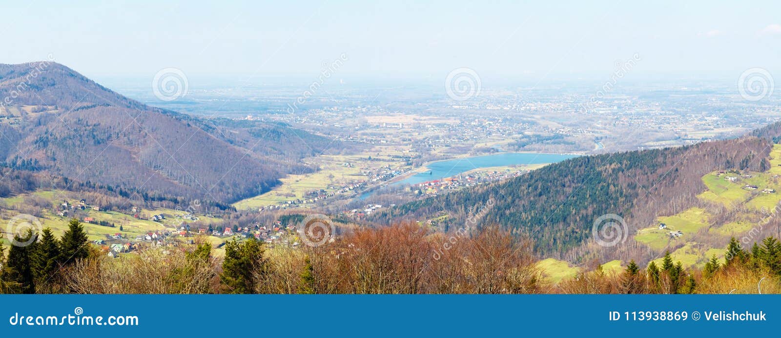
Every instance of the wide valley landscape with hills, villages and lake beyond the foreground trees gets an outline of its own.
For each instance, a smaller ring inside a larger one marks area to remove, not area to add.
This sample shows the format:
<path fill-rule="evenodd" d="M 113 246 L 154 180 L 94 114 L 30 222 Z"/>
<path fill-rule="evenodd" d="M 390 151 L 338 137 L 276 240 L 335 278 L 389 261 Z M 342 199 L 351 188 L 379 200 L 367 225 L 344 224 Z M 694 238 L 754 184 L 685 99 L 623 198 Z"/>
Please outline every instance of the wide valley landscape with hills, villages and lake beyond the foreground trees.
<path fill-rule="evenodd" d="M 781 126 L 749 132 L 772 118 L 761 107 L 734 120 L 731 94 L 703 103 L 694 93 L 676 109 L 719 113 L 677 115 L 640 93 L 586 113 L 571 111 L 580 92 L 519 101 L 488 91 L 462 105 L 358 95 L 303 112 L 203 116 L 48 69 L 35 91 L 0 107 L 0 220 L 30 215 L 59 237 L 77 219 L 111 258 L 198 244 L 223 258 L 226 244 L 252 238 L 298 252 L 309 216 L 326 218 L 332 240 L 400 224 L 427 241 L 496 227 L 529 240 L 540 280 L 558 286 L 594 266 L 615 275 L 630 260 L 661 265 L 667 252 L 704 269 L 726 262 L 730 238 L 749 246 L 781 224 Z M 0 70 L 0 91 L 23 78 Z M 615 247 L 594 241 L 601 215 L 626 222 Z M 9 245 L 12 233 L 0 232 Z"/>

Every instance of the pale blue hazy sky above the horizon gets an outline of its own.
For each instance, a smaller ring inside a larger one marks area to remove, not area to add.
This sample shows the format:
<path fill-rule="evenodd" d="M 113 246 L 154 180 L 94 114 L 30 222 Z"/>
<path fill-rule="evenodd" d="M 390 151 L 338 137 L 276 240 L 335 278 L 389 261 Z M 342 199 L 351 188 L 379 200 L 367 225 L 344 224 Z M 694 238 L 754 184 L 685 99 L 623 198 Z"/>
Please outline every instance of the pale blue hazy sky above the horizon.
<path fill-rule="evenodd" d="M 4 2 L 0 63 L 46 59 L 86 76 L 319 73 L 535 80 L 611 73 L 781 76 L 781 2 Z"/>

